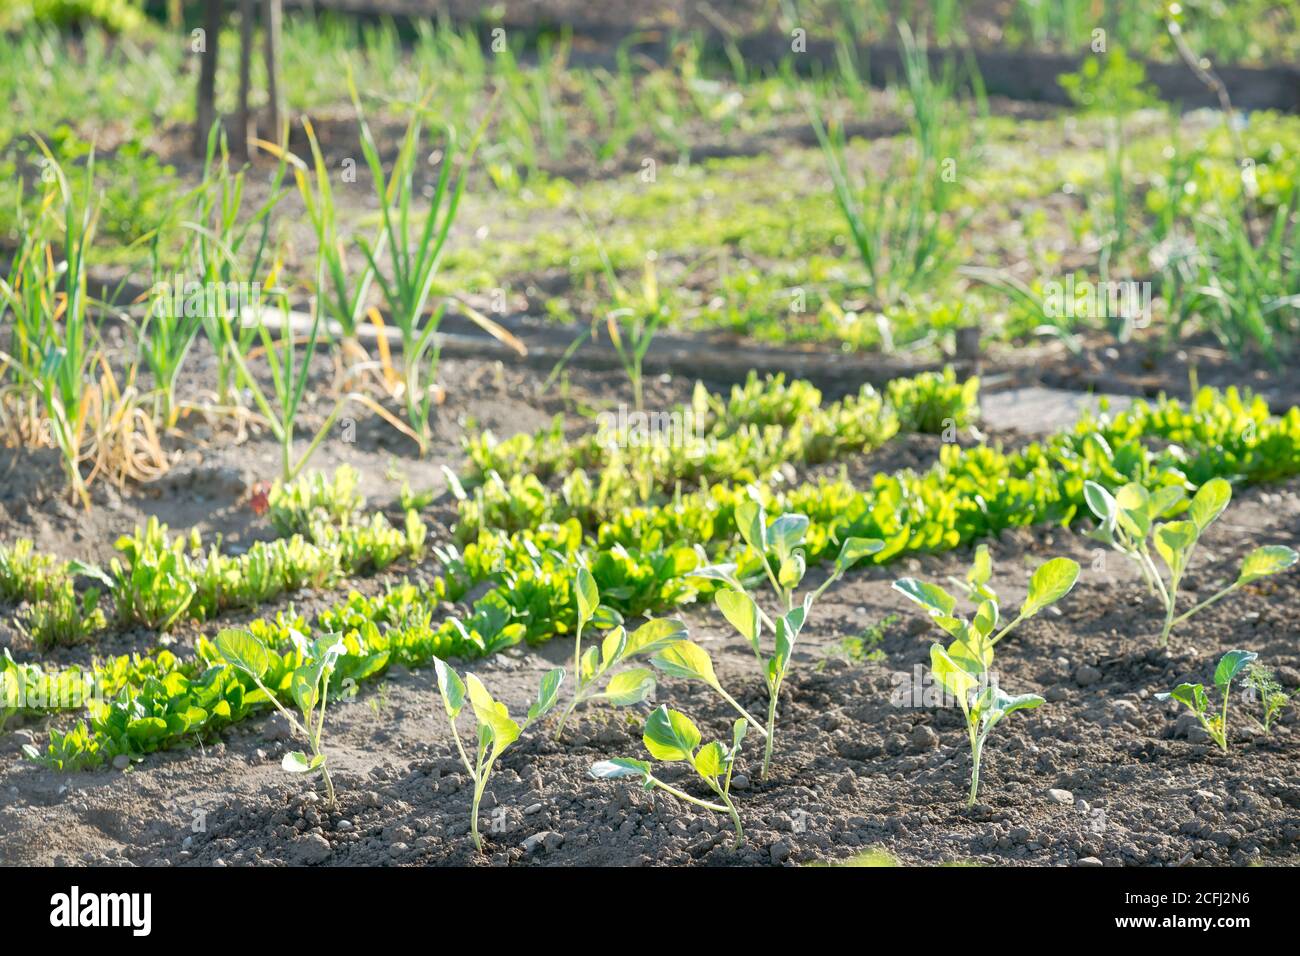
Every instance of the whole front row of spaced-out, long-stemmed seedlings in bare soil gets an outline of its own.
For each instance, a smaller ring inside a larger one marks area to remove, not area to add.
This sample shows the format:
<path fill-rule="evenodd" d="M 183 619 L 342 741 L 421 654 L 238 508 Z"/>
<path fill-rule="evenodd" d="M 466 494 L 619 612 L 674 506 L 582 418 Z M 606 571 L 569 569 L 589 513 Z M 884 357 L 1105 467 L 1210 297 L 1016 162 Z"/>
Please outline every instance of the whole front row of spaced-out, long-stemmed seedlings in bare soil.
<path fill-rule="evenodd" d="M 1097 497 L 1100 486 L 1092 485 L 1091 489 L 1093 489 L 1089 494 L 1091 501 L 1105 501 Z M 1186 496 L 1167 494 L 1153 502 L 1139 485 L 1127 485 L 1119 490 L 1114 506 L 1109 502 L 1098 506 L 1101 511 L 1098 533 L 1110 533 L 1115 527 L 1127 529 L 1127 533 L 1136 533 L 1139 527 L 1148 524 L 1156 516 L 1186 511 L 1187 516 L 1183 519 L 1148 527 L 1167 571 L 1167 581 L 1162 581 L 1160 572 L 1154 572 L 1153 583 L 1158 583 L 1161 588 L 1167 587 L 1167 594 L 1173 601 L 1176 596 L 1178 579 L 1186 568 L 1196 540 L 1222 514 L 1230 497 L 1228 485 L 1222 479 L 1206 483 L 1191 501 Z M 680 620 L 658 618 L 632 632 L 621 624 L 612 624 L 610 615 L 602 614 L 602 594 L 595 579 L 585 567 L 578 566 L 573 578 L 577 602 L 573 687 L 568 692 L 568 704 L 556 721 L 555 735 L 563 737 L 569 714 L 580 705 L 641 704 L 654 693 L 658 674 L 707 685 L 738 714 L 729 740 L 702 745 L 702 735 L 696 723 L 686 714 L 664 704 L 645 721 L 642 741 L 650 760 L 642 757 L 602 760 L 592 765 L 590 774 L 597 779 L 634 778 L 645 790 L 658 788 L 703 809 L 725 813 L 734 826 L 736 845 L 740 847 L 744 843 L 744 823 L 732 800 L 731 782 L 748 732 L 753 727 L 763 739 L 760 774 L 766 779 L 777 739 L 781 685 L 789 675 L 796 643 L 811 618 L 816 598 L 854 562 L 879 554 L 884 542 L 876 538 L 845 540 L 833 572 L 820 587 L 800 596 L 798 589 L 806 567 L 801 545 L 809 527 L 807 518 L 786 512 L 768 522 L 762 506 L 757 501 L 748 501 L 737 509 L 736 519 L 737 531 L 745 542 L 755 553 L 767 555 L 762 562 L 763 574 L 741 580 L 734 564 L 703 567 L 696 574 L 724 584 L 715 593 L 715 604 L 727 622 L 754 650 L 758 670 L 767 688 L 766 722 L 750 714 L 723 687 L 708 653 L 689 640 L 686 627 Z M 1135 559 L 1143 555 L 1145 546 Z M 1243 561 L 1234 587 L 1284 571 L 1296 563 L 1296 553 L 1286 548 L 1256 549 Z M 976 605 L 975 614 L 970 619 L 957 614 L 957 601 L 944 588 L 910 578 L 894 581 L 897 591 L 924 607 L 935 623 L 952 637 L 946 648 L 937 643 L 932 645 L 931 672 L 936 683 L 956 698 L 966 718 L 971 747 L 967 805 L 974 805 L 979 793 L 982 757 L 992 730 L 1017 710 L 1037 708 L 1045 702 L 1037 695 L 1013 696 L 998 687 L 992 672 L 994 646 L 1023 620 L 1065 597 L 1078 579 L 1079 566 L 1069 558 L 1053 558 L 1041 564 L 1030 579 L 1024 602 L 1009 622 L 1004 622 L 997 594 L 989 587 L 991 575 L 988 550 L 982 546 L 963 583 L 967 596 Z M 757 600 L 757 588 L 767 584 L 775 596 L 771 613 Z M 1222 593 L 1201 602 L 1183 618 L 1219 597 Z M 601 624 L 602 618 L 606 622 L 604 627 Z M 588 627 L 603 630 L 604 633 L 598 643 L 584 646 L 584 628 Z M 286 662 L 273 645 L 250 631 L 222 631 L 217 635 L 214 649 L 229 663 L 230 671 L 255 688 L 244 692 L 244 684 L 240 683 L 238 688 L 243 700 L 260 695 L 259 700 L 265 700 L 280 710 L 295 734 L 307 744 L 308 750 L 291 752 L 283 757 L 283 769 L 295 774 L 320 773 L 325 779 L 329 803 L 334 805 L 335 791 L 325 748 L 325 709 L 333 675 L 347 671 L 355 674 L 358 658 L 347 639 L 339 633 L 326 633 L 316 640 L 302 635 L 292 637 L 292 662 Z M 290 663 L 295 666 L 290 669 Z M 473 780 L 469 827 L 476 848 L 482 849 L 478 808 L 493 767 L 502 753 L 530 724 L 542 719 L 560 702 L 566 693 L 566 669 L 555 667 L 542 678 L 537 698 L 529 706 L 525 719 L 516 722 L 477 676 L 469 674 L 462 678 L 439 657 L 433 657 L 433 663 L 456 752 L 465 773 Z M 1264 732 L 1268 732 L 1277 713 L 1287 706 L 1290 700 L 1280 692 L 1268 669 L 1257 663 L 1257 654 L 1253 652 L 1232 650 L 1218 663 L 1214 687 L 1222 701 L 1221 710 L 1217 710 L 1217 702 L 1212 705 L 1201 684 L 1180 684 L 1169 693 L 1157 695 L 1157 698 L 1173 697 L 1191 708 L 1226 752 L 1230 689 L 1232 680 L 1243 672 L 1247 674 L 1247 682 L 1260 693 L 1261 715 L 1257 723 Z M 344 685 L 350 679 L 351 675 L 344 678 Z M 296 706 L 298 715 L 289 710 L 289 704 Z M 476 724 L 469 749 L 465 748 L 456 724 L 467 704 Z M 153 726 L 161 730 L 162 721 L 152 719 L 156 722 Z M 671 762 L 688 763 L 718 803 L 693 796 L 662 779 L 655 763 Z"/>

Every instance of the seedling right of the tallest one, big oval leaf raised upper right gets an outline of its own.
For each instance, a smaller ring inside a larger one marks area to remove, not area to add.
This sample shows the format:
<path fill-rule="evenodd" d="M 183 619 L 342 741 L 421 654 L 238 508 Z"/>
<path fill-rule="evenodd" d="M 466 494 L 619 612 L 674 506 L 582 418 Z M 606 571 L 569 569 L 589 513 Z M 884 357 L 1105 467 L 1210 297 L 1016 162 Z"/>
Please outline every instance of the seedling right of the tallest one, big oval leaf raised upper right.
<path fill-rule="evenodd" d="M 967 622 L 957 617 L 957 600 L 937 584 L 902 578 L 893 587 L 904 596 L 924 607 L 930 617 L 953 637 L 945 649 L 941 644 L 930 648 L 930 670 L 939 684 L 957 698 L 966 717 L 966 731 L 971 744 L 971 790 L 967 806 L 975 805 L 979 792 L 980 762 L 984 741 L 997 723 L 1010 713 L 1028 710 L 1043 704 L 1036 693 L 1010 696 L 1004 693 L 993 676 L 993 646 L 1006 637 L 1022 620 L 1032 618 L 1044 607 L 1070 593 L 1079 579 L 1079 564 L 1070 558 L 1052 558 L 1030 578 L 1030 593 L 1019 613 L 1008 623 L 1001 623 L 997 594 L 988 585 L 992 563 L 987 549 L 976 553 L 975 566 L 967 575 L 975 617 Z"/>

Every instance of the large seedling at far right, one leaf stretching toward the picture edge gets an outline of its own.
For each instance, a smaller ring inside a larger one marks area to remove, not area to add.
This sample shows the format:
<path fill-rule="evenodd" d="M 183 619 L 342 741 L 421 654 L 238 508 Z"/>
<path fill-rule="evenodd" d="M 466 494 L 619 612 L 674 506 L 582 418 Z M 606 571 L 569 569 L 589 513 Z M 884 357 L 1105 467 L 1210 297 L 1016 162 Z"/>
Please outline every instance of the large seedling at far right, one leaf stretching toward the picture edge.
<path fill-rule="evenodd" d="M 1296 553 L 1284 545 L 1256 548 L 1242 561 L 1242 570 L 1235 581 L 1175 617 L 1178 587 L 1196 542 L 1214 519 L 1223 514 L 1223 509 L 1232 499 L 1232 486 L 1223 479 L 1210 479 L 1196 492 L 1191 505 L 1179 488 L 1165 486 L 1148 492 L 1138 483 L 1130 483 L 1112 496 L 1096 481 L 1086 481 L 1083 494 L 1100 522 L 1092 536 L 1138 564 L 1147 587 L 1164 605 L 1165 626 L 1160 632 L 1161 646 L 1169 645 L 1169 635 L 1174 627 L 1197 611 L 1227 597 L 1238 588 L 1286 571 L 1296 563 Z M 1187 506 L 1186 518 L 1158 520 L 1178 514 L 1184 506 Z M 1152 549 L 1169 568 L 1167 581 L 1150 557 Z"/>

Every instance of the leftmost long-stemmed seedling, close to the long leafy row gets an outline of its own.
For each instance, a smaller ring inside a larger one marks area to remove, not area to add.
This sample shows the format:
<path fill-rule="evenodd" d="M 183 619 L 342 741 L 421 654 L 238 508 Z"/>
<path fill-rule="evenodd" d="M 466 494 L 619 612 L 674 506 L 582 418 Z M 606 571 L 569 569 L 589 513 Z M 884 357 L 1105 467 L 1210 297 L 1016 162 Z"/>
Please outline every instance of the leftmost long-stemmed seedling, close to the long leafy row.
<path fill-rule="evenodd" d="M 270 670 L 272 657 L 266 646 L 250 631 L 242 628 L 228 628 L 217 635 L 214 641 L 217 652 L 226 662 L 250 678 L 263 693 L 266 695 L 276 710 L 289 721 L 289 726 L 307 741 L 311 753 L 294 750 L 286 753 L 281 766 L 291 774 L 313 774 L 317 770 L 325 778 L 325 792 L 329 796 L 330 806 L 335 804 L 334 782 L 330 779 L 329 767 L 325 763 L 325 748 L 321 737 L 325 732 L 325 705 L 329 696 L 329 679 L 338 663 L 339 654 L 343 653 L 343 641 L 339 635 L 328 633 L 311 640 L 290 631 L 290 637 L 298 649 L 302 663 L 294 669 L 289 682 L 289 692 L 298 705 L 302 721 L 290 713 L 276 697 L 276 695 L 263 683 L 266 671 Z"/>

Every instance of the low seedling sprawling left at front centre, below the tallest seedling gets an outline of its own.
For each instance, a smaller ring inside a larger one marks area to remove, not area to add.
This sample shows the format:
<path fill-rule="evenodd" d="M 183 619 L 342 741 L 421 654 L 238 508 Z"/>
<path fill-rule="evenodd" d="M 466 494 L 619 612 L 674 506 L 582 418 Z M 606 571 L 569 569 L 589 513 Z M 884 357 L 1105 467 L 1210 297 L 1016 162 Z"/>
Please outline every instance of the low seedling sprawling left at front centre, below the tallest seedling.
<path fill-rule="evenodd" d="M 731 799 L 732 770 L 736 767 L 736 757 L 740 754 L 740 745 L 745 740 L 748 723 L 740 718 L 732 724 L 731 747 L 720 741 L 699 745 L 702 736 L 699 728 L 689 717 L 677 710 L 670 710 L 660 705 L 646 718 L 645 734 L 641 737 L 650 756 L 658 761 L 673 762 L 685 761 L 699 775 L 708 788 L 718 795 L 722 804 L 710 803 L 693 797 L 682 790 L 664 783 L 654 775 L 653 765 L 646 760 L 630 760 L 616 757 L 615 760 L 602 760 L 592 765 L 590 774 L 598 780 L 616 780 L 624 777 L 640 777 L 642 788 L 646 792 L 655 787 L 671 793 L 679 800 L 685 800 L 706 810 L 715 810 L 731 816 L 736 827 L 736 849 L 745 843 L 745 829 L 740 822 L 740 813 Z"/>

